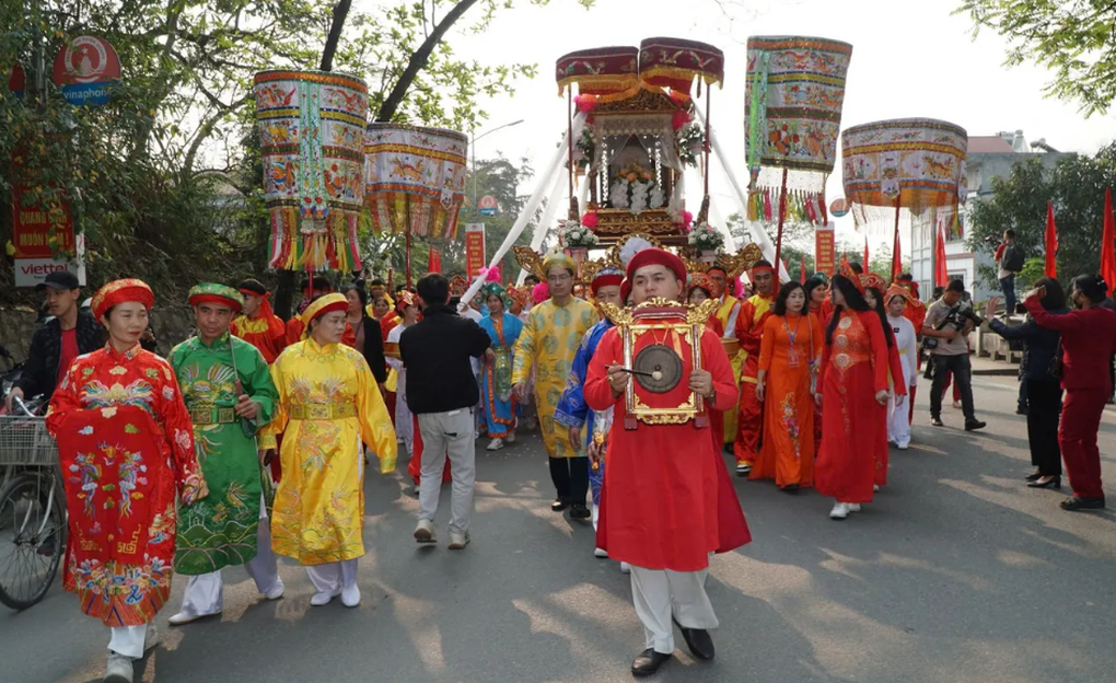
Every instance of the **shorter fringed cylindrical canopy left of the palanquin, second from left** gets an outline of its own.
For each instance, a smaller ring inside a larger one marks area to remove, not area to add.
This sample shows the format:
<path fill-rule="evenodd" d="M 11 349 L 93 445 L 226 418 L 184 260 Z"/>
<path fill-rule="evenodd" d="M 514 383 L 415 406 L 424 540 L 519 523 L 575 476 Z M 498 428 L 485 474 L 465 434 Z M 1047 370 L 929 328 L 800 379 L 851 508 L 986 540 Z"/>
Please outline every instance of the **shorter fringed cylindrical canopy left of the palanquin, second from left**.
<path fill-rule="evenodd" d="M 468 146 L 454 131 L 368 124 L 365 186 L 374 229 L 456 237 Z"/>

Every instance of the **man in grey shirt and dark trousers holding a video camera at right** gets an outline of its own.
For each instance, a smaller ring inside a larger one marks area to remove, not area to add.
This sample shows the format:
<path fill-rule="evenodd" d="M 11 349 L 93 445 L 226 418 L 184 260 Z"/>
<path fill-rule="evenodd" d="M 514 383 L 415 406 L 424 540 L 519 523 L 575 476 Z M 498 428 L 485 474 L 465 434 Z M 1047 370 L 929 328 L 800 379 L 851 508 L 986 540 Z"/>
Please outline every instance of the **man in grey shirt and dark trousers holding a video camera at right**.
<path fill-rule="evenodd" d="M 961 407 L 965 414 L 965 431 L 983 429 L 985 423 L 977 420 L 973 411 L 972 365 L 969 362 L 969 344 L 965 340 L 983 320 L 971 304 L 962 302 L 964 282 L 952 280 L 942 298 L 926 310 L 926 321 L 922 335 L 934 363 L 934 384 L 930 392 L 930 422 L 934 426 L 942 423 L 942 394 L 945 382 L 952 373 L 961 389 Z"/>

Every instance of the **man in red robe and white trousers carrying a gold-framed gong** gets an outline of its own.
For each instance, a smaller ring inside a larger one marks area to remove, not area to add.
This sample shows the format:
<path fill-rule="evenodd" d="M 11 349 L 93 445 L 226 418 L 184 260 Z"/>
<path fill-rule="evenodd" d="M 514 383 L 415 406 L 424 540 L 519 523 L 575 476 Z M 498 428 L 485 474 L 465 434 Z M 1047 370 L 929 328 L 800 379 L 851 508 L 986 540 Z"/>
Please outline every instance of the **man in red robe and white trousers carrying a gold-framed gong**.
<path fill-rule="evenodd" d="M 638 252 L 626 275 L 636 308 L 608 309 L 618 326 L 589 364 L 585 400 L 595 411 L 615 410 L 597 546 L 632 566 L 632 599 L 646 636 L 632 673 L 645 676 L 671 658 L 674 625 L 694 657 L 713 658 L 709 629 L 719 623 L 705 594 L 710 556 L 751 535 L 704 431 L 710 410 L 737 400 L 724 346 L 698 319 L 709 307 L 680 304 L 686 270 L 668 251 Z"/>

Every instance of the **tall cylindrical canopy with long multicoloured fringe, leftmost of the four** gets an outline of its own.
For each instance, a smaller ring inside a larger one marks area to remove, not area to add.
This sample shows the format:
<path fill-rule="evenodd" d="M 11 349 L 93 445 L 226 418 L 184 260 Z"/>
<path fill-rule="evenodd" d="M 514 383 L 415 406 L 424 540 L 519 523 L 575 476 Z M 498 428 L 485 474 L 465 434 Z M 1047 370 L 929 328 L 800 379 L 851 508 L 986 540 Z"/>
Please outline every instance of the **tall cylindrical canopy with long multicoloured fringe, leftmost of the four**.
<path fill-rule="evenodd" d="M 295 270 L 358 270 L 364 203 L 364 80 L 323 71 L 256 75 L 268 262 Z"/>

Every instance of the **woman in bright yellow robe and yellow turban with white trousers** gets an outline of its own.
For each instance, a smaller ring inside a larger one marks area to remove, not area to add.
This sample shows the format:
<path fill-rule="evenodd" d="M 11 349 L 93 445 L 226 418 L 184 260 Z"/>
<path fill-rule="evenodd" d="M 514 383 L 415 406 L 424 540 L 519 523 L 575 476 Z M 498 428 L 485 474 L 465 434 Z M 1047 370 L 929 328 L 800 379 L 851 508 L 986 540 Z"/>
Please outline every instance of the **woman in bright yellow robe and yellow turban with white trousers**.
<path fill-rule="evenodd" d="M 381 473 L 395 471 L 395 431 L 368 363 L 340 344 L 348 302 L 326 295 L 307 307 L 307 338 L 271 366 L 279 391 L 276 419 L 260 446 L 282 433 L 282 481 L 271 517 L 271 547 L 306 566 L 317 589 L 310 604 L 341 596 L 360 603 L 357 558 L 364 555 L 364 459 L 360 442 L 379 455 Z"/>

